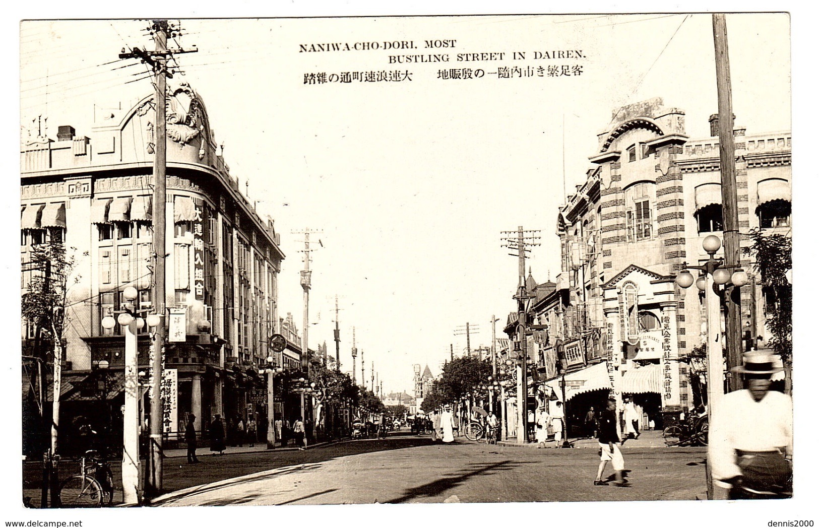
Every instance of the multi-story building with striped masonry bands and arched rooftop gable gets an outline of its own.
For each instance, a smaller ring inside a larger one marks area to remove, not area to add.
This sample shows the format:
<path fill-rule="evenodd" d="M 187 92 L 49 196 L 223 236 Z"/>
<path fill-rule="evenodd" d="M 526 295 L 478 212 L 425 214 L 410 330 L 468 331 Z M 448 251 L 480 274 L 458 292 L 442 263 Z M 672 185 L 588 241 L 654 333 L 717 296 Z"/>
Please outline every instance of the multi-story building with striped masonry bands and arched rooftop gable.
<path fill-rule="evenodd" d="M 694 139 L 685 113 L 659 98 L 619 108 L 586 182 L 559 210 L 561 273 L 555 298 L 536 312 L 559 340 L 571 415 L 603 404 L 609 390 L 634 395 L 645 422 L 695 404 L 688 359 L 704 342 L 704 308 L 696 288 L 686 296 L 674 281 L 683 262 L 708 259 L 704 237 L 722 237 L 716 120 L 711 137 Z M 790 234 L 790 132 L 734 135 L 740 232 Z M 740 265 L 751 272 L 747 257 Z M 764 344 L 767 291 L 753 282 L 742 291 L 744 339 Z M 562 383 L 548 382 L 557 395 Z"/>

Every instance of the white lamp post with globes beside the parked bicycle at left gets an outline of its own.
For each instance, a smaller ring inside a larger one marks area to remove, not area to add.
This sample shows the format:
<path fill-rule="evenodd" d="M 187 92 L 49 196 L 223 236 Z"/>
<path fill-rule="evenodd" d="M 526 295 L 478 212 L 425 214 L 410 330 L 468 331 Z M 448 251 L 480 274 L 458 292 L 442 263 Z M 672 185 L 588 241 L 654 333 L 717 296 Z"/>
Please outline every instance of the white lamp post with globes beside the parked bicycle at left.
<path fill-rule="evenodd" d="M 102 327 L 111 330 L 116 323 L 125 329 L 125 404 L 122 416 L 123 422 L 123 453 L 122 453 L 122 494 L 125 504 L 138 504 L 140 495 L 139 485 L 139 375 L 138 375 L 138 352 L 137 352 L 137 332 L 145 327 L 146 321 L 139 317 L 139 314 L 147 310 L 138 310 L 133 301 L 137 299 L 139 293 L 134 287 L 127 287 L 122 292 L 124 297 L 124 309 L 115 311 L 114 318 L 106 316 L 102 318 Z M 161 319 L 157 314 L 147 316 L 148 327 L 159 326 Z M 160 375 L 155 372 L 155 375 Z M 159 401 L 159 395 L 156 401 Z"/>

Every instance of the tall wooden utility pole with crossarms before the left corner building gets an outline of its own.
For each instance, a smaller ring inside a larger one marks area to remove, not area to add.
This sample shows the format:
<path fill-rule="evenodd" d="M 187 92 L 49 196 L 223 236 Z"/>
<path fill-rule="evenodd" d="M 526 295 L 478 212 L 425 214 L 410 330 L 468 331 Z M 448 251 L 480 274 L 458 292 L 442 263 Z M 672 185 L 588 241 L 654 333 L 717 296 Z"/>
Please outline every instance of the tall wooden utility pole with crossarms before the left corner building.
<path fill-rule="evenodd" d="M 146 52 L 138 47 L 133 47 L 130 52 L 122 50 L 120 59 L 140 58 L 147 65 L 150 65 L 154 74 L 156 95 L 156 147 L 154 151 L 153 163 L 153 246 L 154 246 L 154 270 L 153 270 L 153 302 L 156 314 L 161 318 L 165 316 L 165 258 L 168 255 L 165 246 L 165 165 L 167 151 L 167 137 L 165 136 L 165 97 L 167 96 L 166 79 L 173 78 L 173 74 L 168 70 L 168 57 L 174 53 L 197 52 L 193 47 L 189 50 L 168 49 L 168 36 L 171 38 L 179 36 L 179 28 L 168 24 L 168 20 L 152 20 L 152 25 L 148 28 L 153 34 L 156 44 L 154 52 Z M 162 320 L 162 319 L 161 319 Z M 147 488 L 145 494 L 157 496 L 162 491 L 162 356 L 165 350 L 165 322 L 159 324 L 153 332 L 151 350 L 151 435 L 148 443 L 147 455 Z"/>

